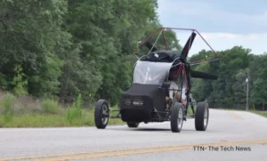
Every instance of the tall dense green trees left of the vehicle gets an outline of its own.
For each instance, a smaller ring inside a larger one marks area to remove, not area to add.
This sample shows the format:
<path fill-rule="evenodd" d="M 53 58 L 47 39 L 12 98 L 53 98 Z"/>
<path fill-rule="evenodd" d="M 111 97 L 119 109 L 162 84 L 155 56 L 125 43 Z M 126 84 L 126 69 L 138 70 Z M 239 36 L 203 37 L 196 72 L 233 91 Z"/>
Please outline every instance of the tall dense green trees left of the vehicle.
<path fill-rule="evenodd" d="M 71 102 L 116 104 L 132 81 L 134 49 L 161 25 L 157 0 L 4 0 L 0 87 Z M 167 32 L 174 46 L 174 32 Z M 169 41 L 170 41 L 169 40 Z"/>

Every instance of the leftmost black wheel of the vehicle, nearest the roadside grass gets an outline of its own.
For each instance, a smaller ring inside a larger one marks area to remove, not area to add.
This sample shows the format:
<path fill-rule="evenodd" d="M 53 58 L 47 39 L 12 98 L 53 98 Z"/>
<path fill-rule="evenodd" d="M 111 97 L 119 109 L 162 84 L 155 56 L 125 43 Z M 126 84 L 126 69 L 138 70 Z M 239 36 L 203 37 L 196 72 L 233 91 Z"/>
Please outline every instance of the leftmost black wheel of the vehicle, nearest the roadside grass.
<path fill-rule="evenodd" d="M 109 123 L 109 104 L 108 101 L 99 100 L 95 104 L 94 124 L 98 129 L 104 129 Z"/>

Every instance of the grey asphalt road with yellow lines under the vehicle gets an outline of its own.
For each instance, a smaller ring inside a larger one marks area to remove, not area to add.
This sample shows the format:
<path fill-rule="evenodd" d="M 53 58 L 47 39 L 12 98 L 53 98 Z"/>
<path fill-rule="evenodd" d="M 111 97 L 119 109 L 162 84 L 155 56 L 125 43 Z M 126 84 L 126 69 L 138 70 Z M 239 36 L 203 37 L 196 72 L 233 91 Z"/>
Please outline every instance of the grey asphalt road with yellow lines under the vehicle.
<path fill-rule="evenodd" d="M 170 123 L 81 128 L 0 129 L 0 160 L 267 161 L 267 119 L 210 109 L 206 132 L 194 120 L 181 133 Z"/>

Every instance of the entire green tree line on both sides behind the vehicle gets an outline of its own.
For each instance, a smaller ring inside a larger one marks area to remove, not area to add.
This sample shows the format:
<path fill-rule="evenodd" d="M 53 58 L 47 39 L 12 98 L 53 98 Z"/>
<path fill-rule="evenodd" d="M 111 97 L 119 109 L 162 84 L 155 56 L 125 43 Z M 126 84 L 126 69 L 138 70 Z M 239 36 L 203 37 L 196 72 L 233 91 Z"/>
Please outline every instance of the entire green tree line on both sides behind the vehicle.
<path fill-rule="evenodd" d="M 0 6 L 0 88 L 58 96 L 63 103 L 81 93 L 85 101 L 104 98 L 115 105 L 131 85 L 138 42 L 161 27 L 157 0 L 3 0 Z M 174 32 L 166 37 L 169 48 L 181 50 Z M 250 101 L 261 107 L 267 98 L 266 53 L 235 46 L 219 54 L 219 62 L 193 67 L 219 75 L 216 81 L 193 80 L 196 100 L 244 107 L 250 76 Z M 202 51 L 190 60 L 206 56 L 213 53 Z"/>

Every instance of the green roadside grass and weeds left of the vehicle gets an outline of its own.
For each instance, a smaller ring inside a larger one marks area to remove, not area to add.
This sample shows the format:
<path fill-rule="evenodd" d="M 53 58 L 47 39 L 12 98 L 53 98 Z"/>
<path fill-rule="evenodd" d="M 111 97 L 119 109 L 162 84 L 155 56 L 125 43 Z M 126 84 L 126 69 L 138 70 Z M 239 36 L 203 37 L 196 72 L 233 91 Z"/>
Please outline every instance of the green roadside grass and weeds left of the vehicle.
<path fill-rule="evenodd" d="M 0 98 L 0 127 L 94 126 L 94 110 L 82 109 L 82 104 L 81 95 L 70 107 L 63 108 L 53 99 L 30 102 L 5 93 Z M 121 119 L 109 119 L 109 125 L 124 124 Z"/>

